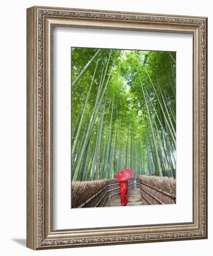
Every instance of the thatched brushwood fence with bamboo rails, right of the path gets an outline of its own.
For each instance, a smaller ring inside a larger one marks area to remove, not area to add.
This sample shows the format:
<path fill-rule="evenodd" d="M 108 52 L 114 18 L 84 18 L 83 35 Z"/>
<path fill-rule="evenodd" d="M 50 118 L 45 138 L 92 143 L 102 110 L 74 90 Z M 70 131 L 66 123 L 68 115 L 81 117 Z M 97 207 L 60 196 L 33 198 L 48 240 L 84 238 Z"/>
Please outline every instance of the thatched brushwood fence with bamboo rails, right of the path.
<path fill-rule="evenodd" d="M 176 180 L 172 177 L 140 175 L 137 187 L 147 204 L 176 203 Z"/>

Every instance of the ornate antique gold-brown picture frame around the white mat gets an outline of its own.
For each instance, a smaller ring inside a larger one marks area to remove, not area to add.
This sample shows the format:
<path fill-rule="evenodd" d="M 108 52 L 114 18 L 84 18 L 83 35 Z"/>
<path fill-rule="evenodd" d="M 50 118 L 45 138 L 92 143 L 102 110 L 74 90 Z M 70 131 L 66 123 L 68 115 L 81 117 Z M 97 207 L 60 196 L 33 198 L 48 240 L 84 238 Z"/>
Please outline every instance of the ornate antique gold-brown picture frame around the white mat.
<path fill-rule="evenodd" d="M 52 229 L 52 28 L 193 34 L 193 222 Z M 27 9 L 27 247 L 207 238 L 207 18 L 58 7 Z"/>

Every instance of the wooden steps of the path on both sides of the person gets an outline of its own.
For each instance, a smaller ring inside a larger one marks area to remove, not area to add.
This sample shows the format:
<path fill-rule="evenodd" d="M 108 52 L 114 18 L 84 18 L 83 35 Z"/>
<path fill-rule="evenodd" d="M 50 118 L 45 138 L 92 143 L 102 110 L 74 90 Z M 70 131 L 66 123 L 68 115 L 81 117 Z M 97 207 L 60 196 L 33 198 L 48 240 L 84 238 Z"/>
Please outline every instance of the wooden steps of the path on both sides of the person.
<path fill-rule="evenodd" d="M 128 203 L 126 206 L 135 206 L 135 205 L 144 205 L 145 202 L 142 201 L 141 195 L 140 195 L 140 189 L 133 187 L 133 189 L 128 190 Z M 112 197 L 109 198 L 107 202 L 104 204 L 104 207 L 110 207 L 110 206 L 121 206 L 120 197 Z"/>

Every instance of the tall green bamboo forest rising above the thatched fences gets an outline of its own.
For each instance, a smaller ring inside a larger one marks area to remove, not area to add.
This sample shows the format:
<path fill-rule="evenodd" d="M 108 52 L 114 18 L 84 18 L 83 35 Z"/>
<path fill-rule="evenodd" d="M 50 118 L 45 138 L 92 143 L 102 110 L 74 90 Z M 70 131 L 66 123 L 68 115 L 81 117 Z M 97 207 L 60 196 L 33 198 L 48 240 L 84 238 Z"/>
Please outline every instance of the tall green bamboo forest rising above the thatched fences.
<path fill-rule="evenodd" d="M 176 53 L 72 48 L 72 181 L 176 177 Z"/>

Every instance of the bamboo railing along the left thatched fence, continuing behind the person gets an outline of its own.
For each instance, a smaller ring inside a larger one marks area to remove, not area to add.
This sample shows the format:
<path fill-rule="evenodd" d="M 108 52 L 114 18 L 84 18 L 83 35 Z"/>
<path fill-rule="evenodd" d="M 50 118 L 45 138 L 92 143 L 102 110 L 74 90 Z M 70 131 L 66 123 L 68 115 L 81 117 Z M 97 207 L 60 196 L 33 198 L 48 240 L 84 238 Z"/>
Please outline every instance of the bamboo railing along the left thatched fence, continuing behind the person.
<path fill-rule="evenodd" d="M 115 188 L 113 188 L 114 186 Z M 133 179 L 131 179 L 128 181 L 128 189 L 132 189 L 133 186 L 134 186 L 134 182 L 133 182 Z M 114 193 L 114 191 L 118 189 L 119 191 Z M 103 207 L 109 197 L 112 197 L 118 194 L 120 194 L 119 182 L 114 184 L 108 184 L 104 188 L 100 189 L 96 194 L 90 196 L 85 202 L 81 203 L 77 208 L 85 207 L 88 203 L 91 203 L 94 198 L 97 198 L 97 196 L 100 196 L 100 199 L 93 207 Z"/>

